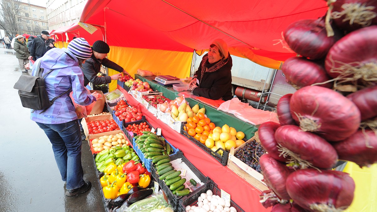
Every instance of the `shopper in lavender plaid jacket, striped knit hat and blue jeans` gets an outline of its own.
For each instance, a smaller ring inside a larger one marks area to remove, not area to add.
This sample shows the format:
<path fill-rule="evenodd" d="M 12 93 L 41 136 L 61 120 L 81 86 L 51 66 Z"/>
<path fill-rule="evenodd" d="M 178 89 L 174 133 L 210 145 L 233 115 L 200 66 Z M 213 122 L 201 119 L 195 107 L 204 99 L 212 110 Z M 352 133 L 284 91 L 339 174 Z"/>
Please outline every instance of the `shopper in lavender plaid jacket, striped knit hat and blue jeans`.
<path fill-rule="evenodd" d="M 75 106 L 69 97 L 70 91 L 73 91 L 74 101 L 84 106 L 100 97 L 97 92 L 87 94 L 83 86 L 84 74 L 80 66 L 91 55 L 92 49 L 89 43 L 84 38 L 77 38 L 72 40 L 67 48 L 51 49 L 45 57 L 35 61 L 32 68 L 33 76 L 38 72 L 38 65 L 44 69 L 42 75 L 52 70 L 44 77 L 49 98 L 63 94 L 45 112 L 41 113 L 43 110 L 32 112 L 31 120 L 43 129 L 52 144 L 61 180 L 66 181 L 67 197 L 87 192 L 92 186 L 89 181 L 83 179 L 80 127 Z"/>

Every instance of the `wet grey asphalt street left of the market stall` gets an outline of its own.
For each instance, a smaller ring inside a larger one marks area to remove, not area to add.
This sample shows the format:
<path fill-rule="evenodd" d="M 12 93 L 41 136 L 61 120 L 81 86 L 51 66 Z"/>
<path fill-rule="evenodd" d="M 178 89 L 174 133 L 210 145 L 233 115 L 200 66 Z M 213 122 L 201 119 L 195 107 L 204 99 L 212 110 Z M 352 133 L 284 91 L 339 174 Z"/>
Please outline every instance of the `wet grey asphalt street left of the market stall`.
<path fill-rule="evenodd" d="M 91 181 L 92 188 L 76 197 L 64 196 L 51 143 L 13 89 L 20 75 L 31 71 L 21 73 L 15 51 L 2 44 L 0 74 L 0 212 L 105 211 L 87 141 L 82 145 L 82 164 L 84 180 Z"/>

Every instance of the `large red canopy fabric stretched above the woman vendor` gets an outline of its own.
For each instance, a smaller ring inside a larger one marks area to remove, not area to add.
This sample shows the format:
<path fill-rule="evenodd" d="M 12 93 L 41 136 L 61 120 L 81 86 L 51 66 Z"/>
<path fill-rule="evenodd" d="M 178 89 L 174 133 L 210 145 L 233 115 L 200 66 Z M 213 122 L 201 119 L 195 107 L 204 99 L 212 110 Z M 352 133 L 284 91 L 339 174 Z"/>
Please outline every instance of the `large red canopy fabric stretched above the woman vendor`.
<path fill-rule="evenodd" d="M 279 68 L 295 55 L 284 29 L 326 9 L 323 0 L 88 0 L 80 21 L 102 27 L 111 46 L 192 52 L 222 38 L 231 54 Z"/>

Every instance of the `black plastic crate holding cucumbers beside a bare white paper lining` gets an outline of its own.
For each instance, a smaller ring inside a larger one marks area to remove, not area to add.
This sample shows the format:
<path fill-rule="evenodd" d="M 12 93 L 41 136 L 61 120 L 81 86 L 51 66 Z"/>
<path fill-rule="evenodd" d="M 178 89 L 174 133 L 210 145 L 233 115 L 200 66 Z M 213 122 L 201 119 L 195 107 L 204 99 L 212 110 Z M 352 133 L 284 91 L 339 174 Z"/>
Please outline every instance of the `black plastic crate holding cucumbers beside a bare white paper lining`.
<path fill-rule="evenodd" d="M 210 181 L 210 178 L 205 177 L 189 160 L 187 160 L 186 157 L 183 156 L 183 153 L 181 151 L 178 151 L 174 155 L 170 155 L 170 160 L 176 160 L 178 158 L 182 158 L 182 162 L 184 162 L 190 169 L 191 171 L 198 177 L 204 185 L 196 189 L 193 193 L 195 193 L 197 190 L 202 190 L 204 187 L 207 187 L 208 181 Z M 150 173 L 152 174 L 153 178 L 158 182 L 159 186 L 161 189 L 165 192 L 167 198 L 169 199 L 170 203 L 172 205 L 172 208 L 174 211 L 178 210 L 179 207 L 179 200 L 181 200 L 182 197 L 178 197 L 177 195 L 173 194 L 173 191 L 169 189 L 169 186 L 165 184 L 163 180 L 160 180 L 159 177 L 160 175 L 157 174 L 156 168 L 151 164 L 151 171 Z"/>

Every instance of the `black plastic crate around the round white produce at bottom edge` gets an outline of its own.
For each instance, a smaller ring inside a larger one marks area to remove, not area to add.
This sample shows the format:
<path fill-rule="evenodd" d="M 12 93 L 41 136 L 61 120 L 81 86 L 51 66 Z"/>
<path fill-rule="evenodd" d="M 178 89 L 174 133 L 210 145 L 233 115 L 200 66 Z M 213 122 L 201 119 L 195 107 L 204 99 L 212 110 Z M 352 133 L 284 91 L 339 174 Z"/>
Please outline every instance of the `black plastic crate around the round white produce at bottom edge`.
<path fill-rule="evenodd" d="M 214 195 L 219 195 L 221 197 L 221 190 L 217 187 L 217 184 L 215 182 L 210 180 L 207 184 L 205 184 L 205 187 L 197 189 L 191 192 L 189 195 L 182 197 L 181 200 L 179 200 L 178 212 L 185 212 L 186 206 L 195 205 L 198 202 L 198 197 L 200 197 L 202 193 L 207 192 L 207 190 L 211 190 Z M 245 212 L 233 200 L 230 200 L 230 206 L 234 207 L 237 210 L 237 212 Z"/>

